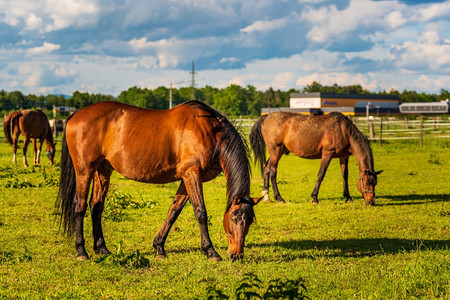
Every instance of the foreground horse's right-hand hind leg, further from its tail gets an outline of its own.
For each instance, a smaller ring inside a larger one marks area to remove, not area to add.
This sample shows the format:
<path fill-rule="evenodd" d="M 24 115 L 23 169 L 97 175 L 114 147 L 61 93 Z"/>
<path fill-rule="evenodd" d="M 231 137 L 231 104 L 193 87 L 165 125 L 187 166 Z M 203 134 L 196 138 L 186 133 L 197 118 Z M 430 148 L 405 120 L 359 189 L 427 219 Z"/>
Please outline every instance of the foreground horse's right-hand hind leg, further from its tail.
<path fill-rule="evenodd" d="M 102 229 L 102 213 L 105 207 L 105 198 L 108 193 L 111 173 L 112 171 L 108 169 L 101 169 L 94 174 L 94 184 L 89 203 L 94 235 L 94 251 L 102 255 L 111 253 L 106 247 Z"/>

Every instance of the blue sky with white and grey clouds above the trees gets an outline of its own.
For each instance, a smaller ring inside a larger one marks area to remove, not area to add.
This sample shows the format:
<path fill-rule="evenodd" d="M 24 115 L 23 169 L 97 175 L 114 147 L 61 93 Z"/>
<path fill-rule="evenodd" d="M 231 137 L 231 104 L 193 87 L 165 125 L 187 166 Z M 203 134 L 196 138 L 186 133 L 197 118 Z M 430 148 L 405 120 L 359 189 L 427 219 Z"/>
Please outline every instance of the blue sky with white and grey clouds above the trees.
<path fill-rule="evenodd" d="M 450 0 L 0 0 L 0 89 L 450 89 Z"/>

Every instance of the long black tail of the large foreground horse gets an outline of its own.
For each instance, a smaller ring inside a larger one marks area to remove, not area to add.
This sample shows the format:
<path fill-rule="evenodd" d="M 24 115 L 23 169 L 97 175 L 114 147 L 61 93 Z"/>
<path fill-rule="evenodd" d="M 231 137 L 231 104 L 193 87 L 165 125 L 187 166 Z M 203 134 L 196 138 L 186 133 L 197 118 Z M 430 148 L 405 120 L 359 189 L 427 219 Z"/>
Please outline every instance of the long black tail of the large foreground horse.
<path fill-rule="evenodd" d="M 71 116 L 69 116 L 67 122 L 70 118 Z M 72 235 L 75 228 L 74 199 L 76 197 L 76 177 L 72 157 L 70 157 L 69 147 L 67 146 L 66 129 L 64 129 L 61 148 L 61 175 L 55 211 L 56 214 L 60 216 L 59 228 L 61 229 L 62 227 L 64 233 L 67 233 L 67 235 Z"/>

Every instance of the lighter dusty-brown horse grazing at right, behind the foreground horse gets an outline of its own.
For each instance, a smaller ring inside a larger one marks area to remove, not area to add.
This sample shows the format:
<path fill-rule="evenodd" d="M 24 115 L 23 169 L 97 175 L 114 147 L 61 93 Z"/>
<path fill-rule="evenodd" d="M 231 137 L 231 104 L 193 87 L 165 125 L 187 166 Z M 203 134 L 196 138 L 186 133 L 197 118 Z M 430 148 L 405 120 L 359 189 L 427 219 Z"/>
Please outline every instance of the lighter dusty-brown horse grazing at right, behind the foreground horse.
<path fill-rule="evenodd" d="M 274 197 L 285 202 L 277 186 L 277 165 L 283 154 L 309 159 L 321 159 L 316 186 L 311 196 L 319 203 L 320 184 L 332 158 L 339 158 L 344 179 L 346 202 L 352 198 L 348 191 L 348 158 L 353 154 L 359 164 L 358 190 L 366 204 L 375 205 L 377 175 L 373 167 L 372 148 L 367 138 L 353 122 L 339 112 L 320 116 L 305 116 L 292 112 L 274 112 L 260 117 L 250 132 L 250 143 L 264 177 L 263 196 L 269 200 L 269 179 Z M 269 159 L 266 161 L 266 146 Z M 264 164 L 265 162 L 265 164 Z"/>

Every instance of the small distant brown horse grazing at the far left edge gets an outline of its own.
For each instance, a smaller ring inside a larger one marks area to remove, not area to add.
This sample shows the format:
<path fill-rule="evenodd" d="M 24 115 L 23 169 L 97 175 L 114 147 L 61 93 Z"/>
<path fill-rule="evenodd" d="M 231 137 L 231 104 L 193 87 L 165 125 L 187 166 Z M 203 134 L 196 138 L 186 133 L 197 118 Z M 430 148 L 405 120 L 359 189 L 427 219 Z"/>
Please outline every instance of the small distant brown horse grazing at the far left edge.
<path fill-rule="evenodd" d="M 13 145 L 13 163 L 16 164 L 17 142 L 20 134 L 23 135 L 23 164 L 28 167 L 27 148 L 30 140 L 34 148 L 34 165 L 40 164 L 42 143 L 47 143 L 47 157 L 50 165 L 53 164 L 55 157 L 55 144 L 53 142 L 52 130 L 47 116 L 40 110 L 24 109 L 14 111 L 6 116 L 3 121 L 3 130 L 8 143 Z M 36 139 L 39 139 L 39 146 L 36 147 Z"/>

